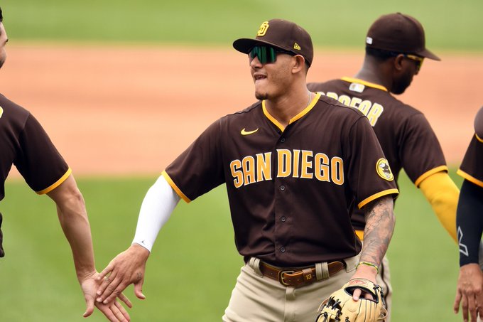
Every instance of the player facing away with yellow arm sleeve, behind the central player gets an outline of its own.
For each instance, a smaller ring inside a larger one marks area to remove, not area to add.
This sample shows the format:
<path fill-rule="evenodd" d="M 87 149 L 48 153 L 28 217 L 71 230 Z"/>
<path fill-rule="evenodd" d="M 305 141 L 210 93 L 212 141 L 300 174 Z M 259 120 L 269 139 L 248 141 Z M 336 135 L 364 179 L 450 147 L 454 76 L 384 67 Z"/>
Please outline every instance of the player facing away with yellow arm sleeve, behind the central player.
<path fill-rule="evenodd" d="M 447 174 L 440 143 L 428 120 L 417 109 L 397 100 L 420 71 L 424 58 L 440 60 L 425 48 L 423 26 L 411 16 L 388 14 L 369 28 L 362 69 L 355 77 L 310 83 L 321 92 L 367 116 L 391 165 L 396 181 L 404 169 L 422 190 L 440 222 L 456 241 L 455 215 L 458 189 Z M 352 224 L 364 238 L 364 213 L 356 211 Z M 389 262 L 384 258 L 378 282 L 390 313 Z M 390 320 L 390 314 L 386 321 Z"/>

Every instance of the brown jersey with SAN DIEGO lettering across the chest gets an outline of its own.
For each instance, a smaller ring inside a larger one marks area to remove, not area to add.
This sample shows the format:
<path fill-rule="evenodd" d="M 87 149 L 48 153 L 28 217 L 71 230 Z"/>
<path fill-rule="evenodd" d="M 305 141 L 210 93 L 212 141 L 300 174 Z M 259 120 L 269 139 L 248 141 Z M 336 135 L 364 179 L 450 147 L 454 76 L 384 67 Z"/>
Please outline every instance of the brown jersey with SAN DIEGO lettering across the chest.
<path fill-rule="evenodd" d="M 239 253 L 281 267 L 355 256 L 352 209 L 398 193 L 364 114 L 321 95 L 286 128 L 264 101 L 222 117 L 163 176 L 186 202 L 226 183 Z"/>

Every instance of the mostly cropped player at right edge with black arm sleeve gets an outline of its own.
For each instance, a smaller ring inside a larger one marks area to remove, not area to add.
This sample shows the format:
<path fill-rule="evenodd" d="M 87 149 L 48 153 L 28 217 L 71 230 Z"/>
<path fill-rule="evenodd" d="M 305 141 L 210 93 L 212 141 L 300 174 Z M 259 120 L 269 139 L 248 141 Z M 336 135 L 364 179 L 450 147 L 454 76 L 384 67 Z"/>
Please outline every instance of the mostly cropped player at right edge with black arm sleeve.
<path fill-rule="evenodd" d="M 483 107 L 474 118 L 474 136 L 457 173 L 465 178 L 458 200 L 456 225 L 460 243 L 460 277 L 454 310 L 460 303 L 464 321 L 482 321 L 483 272 L 478 262 L 478 247 L 483 234 Z M 481 249 L 481 248 L 480 248 Z M 481 264 L 481 262 L 480 262 Z M 477 316 L 479 318 L 477 319 Z"/>

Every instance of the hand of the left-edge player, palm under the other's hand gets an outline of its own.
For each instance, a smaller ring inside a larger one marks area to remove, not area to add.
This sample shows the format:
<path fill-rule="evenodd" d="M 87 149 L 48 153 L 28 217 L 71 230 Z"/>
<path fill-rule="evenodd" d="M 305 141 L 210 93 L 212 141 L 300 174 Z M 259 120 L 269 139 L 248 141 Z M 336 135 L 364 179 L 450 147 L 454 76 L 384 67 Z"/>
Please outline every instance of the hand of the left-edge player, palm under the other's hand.
<path fill-rule="evenodd" d="M 90 316 L 94 311 L 94 305 L 99 308 L 99 311 L 106 316 L 106 318 L 111 322 L 128 322 L 131 321 L 129 313 L 126 309 L 117 301 L 112 301 L 110 304 L 102 304 L 94 301 L 97 294 L 97 289 L 99 289 L 100 282 L 97 280 L 98 272 L 92 272 L 87 274 L 87 276 L 79 279 L 80 287 L 84 293 L 86 311 L 83 314 L 85 318 Z M 132 307 L 131 301 L 124 296 L 124 294 L 119 294 L 119 299 L 124 302 L 130 308 Z"/>

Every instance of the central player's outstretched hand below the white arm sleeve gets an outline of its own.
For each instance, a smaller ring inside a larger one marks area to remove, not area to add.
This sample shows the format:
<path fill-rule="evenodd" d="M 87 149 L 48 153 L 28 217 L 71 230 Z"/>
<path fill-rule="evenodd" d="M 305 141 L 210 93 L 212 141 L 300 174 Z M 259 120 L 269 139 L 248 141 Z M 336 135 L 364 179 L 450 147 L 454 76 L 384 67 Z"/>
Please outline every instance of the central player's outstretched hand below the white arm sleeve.
<path fill-rule="evenodd" d="M 146 299 L 142 287 L 148 257 L 148 249 L 137 244 L 131 245 L 124 252 L 114 257 L 97 277 L 97 280 L 102 281 L 102 284 L 97 290 L 99 297 L 96 301 L 109 304 L 130 284 L 134 284 L 134 294 L 139 299 Z"/>

